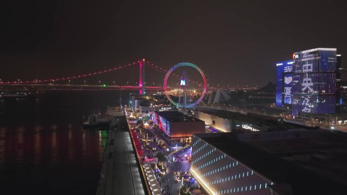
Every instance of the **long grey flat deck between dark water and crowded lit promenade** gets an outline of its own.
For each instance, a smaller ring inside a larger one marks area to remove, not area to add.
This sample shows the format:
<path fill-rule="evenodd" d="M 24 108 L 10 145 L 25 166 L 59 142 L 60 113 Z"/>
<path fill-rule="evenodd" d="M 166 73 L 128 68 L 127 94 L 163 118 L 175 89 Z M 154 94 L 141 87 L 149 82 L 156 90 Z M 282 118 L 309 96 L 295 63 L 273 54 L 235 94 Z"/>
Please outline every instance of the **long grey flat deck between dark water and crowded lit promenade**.
<path fill-rule="evenodd" d="M 129 132 L 110 131 L 109 137 L 97 195 L 145 195 Z M 110 145 L 111 139 L 114 145 Z"/>

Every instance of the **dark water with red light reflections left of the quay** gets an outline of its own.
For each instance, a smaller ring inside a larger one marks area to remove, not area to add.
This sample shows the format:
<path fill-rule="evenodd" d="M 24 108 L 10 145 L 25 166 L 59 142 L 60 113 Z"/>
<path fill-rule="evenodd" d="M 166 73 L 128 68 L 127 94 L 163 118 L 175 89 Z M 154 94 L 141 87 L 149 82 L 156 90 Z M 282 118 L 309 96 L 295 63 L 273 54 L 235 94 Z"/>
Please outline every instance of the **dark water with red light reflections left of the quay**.
<path fill-rule="evenodd" d="M 0 100 L 2 192 L 95 194 L 107 131 L 82 129 L 86 102 L 59 100 Z"/>

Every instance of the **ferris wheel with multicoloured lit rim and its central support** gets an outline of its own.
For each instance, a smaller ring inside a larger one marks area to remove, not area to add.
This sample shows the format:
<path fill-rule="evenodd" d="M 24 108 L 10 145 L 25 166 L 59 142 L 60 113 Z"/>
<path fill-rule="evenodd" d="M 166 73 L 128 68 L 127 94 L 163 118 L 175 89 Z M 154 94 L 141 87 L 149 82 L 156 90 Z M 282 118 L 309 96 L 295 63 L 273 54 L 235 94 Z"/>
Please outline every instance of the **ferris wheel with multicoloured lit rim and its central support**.
<path fill-rule="evenodd" d="M 181 67 L 181 66 L 187 66 L 187 67 L 192 67 L 194 69 L 196 69 L 202 79 L 203 79 L 203 90 L 202 90 L 202 94 L 201 96 L 193 103 L 189 103 L 187 104 L 187 100 L 186 100 L 186 94 L 187 94 L 187 78 L 186 78 L 186 71 L 183 71 L 183 74 L 182 74 L 182 77 L 181 77 L 181 81 L 180 81 L 180 89 L 179 89 L 179 101 L 176 102 L 174 100 L 172 100 L 172 98 L 170 97 L 170 94 L 168 93 L 168 90 L 167 90 L 167 80 L 171 74 L 171 72 L 173 70 L 175 70 L 176 68 L 178 67 Z M 204 97 L 205 93 L 206 93 L 206 89 L 207 89 L 207 82 L 206 82 L 206 77 L 204 75 L 204 73 L 202 72 L 202 70 L 197 67 L 196 65 L 192 64 L 192 63 L 188 63 L 188 62 L 184 62 L 184 63 L 179 63 L 179 64 L 176 64 L 175 66 L 172 66 L 166 73 L 165 75 L 165 78 L 164 78 L 164 93 L 167 97 L 167 99 L 173 104 L 175 105 L 176 107 L 178 108 L 189 108 L 189 107 L 193 107 L 195 106 L 196 104 L 198 104 Z M 181 91 L 183 91 L 183 103 L 180 103 L 180 100 L 181 100 Z"/>

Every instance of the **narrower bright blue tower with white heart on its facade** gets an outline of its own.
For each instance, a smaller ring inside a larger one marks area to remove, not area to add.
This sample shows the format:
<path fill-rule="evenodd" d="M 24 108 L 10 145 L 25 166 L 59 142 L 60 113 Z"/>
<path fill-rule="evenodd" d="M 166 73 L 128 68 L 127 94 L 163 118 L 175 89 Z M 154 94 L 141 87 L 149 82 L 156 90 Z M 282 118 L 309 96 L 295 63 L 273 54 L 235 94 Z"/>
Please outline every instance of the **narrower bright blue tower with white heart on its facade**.
<path fill-rule="evenodd" d="M 276 106 L 292 104 L 293 60 L 276 63 Z"/>

